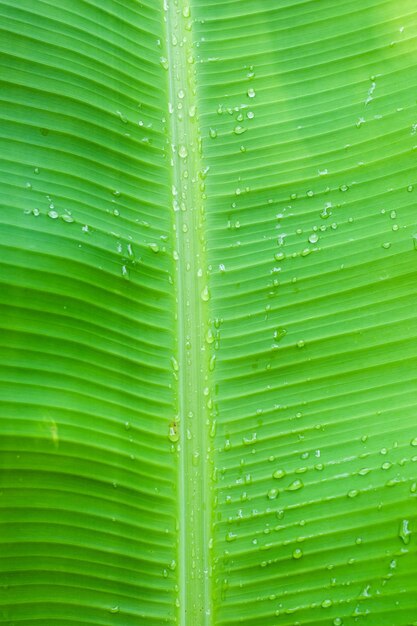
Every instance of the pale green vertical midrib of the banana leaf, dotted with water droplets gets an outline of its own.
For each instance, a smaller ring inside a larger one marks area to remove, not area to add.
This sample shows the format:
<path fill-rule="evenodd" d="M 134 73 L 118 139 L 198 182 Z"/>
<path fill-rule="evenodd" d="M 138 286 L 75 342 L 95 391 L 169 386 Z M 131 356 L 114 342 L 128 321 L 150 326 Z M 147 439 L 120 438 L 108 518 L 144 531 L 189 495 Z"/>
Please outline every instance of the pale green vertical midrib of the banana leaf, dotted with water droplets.
<path fill-rule="evenodd" d="M 176 261 L 178 381 L 178 622 L 211 623 L 210 329 L 204 176 L 187 0 L 165 0 Z M 207 341 L 208 338 L 208 341 Z"/>

